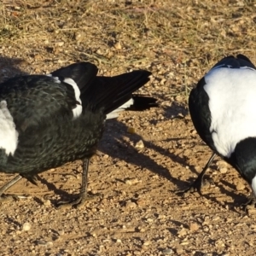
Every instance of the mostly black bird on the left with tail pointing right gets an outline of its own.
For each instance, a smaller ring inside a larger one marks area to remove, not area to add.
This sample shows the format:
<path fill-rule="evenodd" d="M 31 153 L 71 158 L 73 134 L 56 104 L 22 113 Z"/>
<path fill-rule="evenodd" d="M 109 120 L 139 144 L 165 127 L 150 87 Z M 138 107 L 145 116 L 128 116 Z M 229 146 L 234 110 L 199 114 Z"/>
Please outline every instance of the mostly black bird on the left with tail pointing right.
<path fill-rule="evenodd" d="M 157 106 L 152 97 L 132 96 L 148 82 L 148 71 L 115 77 L 99 77 L 97 71 L 95 65 L 79 62 L 49 75 L 0 84 L 0 172 L 19 173 L 0 189 L 0 196 L 21 177 L 36 183 L 40 172 L 83 160 L 80 195 L 70 204 L 84 203 L 89 160 L 105 120 L 132 109 L 133 103 L 139 110 Z"/>

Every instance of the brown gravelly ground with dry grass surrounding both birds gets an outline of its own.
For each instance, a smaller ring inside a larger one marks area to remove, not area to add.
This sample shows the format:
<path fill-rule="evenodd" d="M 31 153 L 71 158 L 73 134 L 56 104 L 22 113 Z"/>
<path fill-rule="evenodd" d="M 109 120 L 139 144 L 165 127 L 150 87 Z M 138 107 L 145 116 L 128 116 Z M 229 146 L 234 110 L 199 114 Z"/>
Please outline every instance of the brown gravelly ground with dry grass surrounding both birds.
<path fill-rule="evenodd" d="M 84 207 L 55 208 L 79 193 L 80 161 L 9 189 L 26 197 L 0 205 L 0 255 L 255 255 L 256 211 L 240 208 L 250 189 L 236 170 L 216 158 L 203 196 L 175 193 L 212 154 L 189 117 L 189 90 L 224 55 L 256 63 L 255 10 L 249 0 L 2 0 L 2 81 L 75 61 L 101 75 L 147 69 L 139 92 L 160 107 L 107 122 L 90 161 L 97 196 Z"/>

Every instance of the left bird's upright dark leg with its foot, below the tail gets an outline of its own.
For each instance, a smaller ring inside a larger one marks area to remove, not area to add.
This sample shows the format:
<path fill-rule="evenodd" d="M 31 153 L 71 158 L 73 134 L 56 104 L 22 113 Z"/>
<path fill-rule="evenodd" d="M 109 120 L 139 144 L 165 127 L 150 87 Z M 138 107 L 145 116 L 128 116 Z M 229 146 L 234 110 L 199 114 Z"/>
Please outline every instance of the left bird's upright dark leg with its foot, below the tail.
<path fill-rule="evenodd" d="M 89 161 L 90 161 L 89 158 L 85 158 L 83 161 L 82 186 L 80 189 L 79 197 L 73 201 L 61 201 L 57 203 L 56 205 L 57 208 L 67 207 L 67 206 L 81 207 L 82 205 L 84 205 L 85 201 L 90 201 L 90 198 L 88 198 L 88 195 L 87 195 Z"/>

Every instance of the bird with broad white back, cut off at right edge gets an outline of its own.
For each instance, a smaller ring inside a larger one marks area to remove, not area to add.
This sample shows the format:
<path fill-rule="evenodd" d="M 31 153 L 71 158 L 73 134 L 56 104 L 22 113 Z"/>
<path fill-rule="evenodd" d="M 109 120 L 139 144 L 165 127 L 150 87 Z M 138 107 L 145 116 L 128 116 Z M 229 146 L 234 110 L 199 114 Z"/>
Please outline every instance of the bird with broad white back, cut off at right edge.
<path fill-rule="evenodd" d="M 195 130 L 213 154 L 190 189 L 200 192 L 202 178 L 218 154 L 241 174 L 256 196 L 256 67 L 244 55 L 219 61 L 189 95 Z M 189 189 L 187 189 L 189 190 Z"/>

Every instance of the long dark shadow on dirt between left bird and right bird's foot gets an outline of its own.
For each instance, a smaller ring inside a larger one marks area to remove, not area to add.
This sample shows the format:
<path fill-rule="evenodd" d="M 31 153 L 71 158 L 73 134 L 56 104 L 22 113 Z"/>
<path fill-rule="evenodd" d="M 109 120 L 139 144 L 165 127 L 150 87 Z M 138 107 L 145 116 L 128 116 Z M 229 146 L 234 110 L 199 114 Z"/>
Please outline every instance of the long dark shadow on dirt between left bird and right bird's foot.
<path fill-rule="evenodd" d="M 130 134 L 126 132 L 127 128 L 128 127 L 125 124 L 118 120 L 113 119 L 108 121 L 98 149 L 102 151 L 102 153 L 108 154 L 113 159 L 117 158 L 119 160 L 125 160 L 127 163 L 141 166 L 141 168 L 159 174 L 161 177 L 165 177 L 167 180 L 178 186 L 186 183 L 173 177 L 169 169 L 161 166 L 154 159 L 151 159 L 150 156 L 144 154 L 144 151 L 153 149 L 154 152 L 166 156 L 170 161 L 177 162 L 181 166 L 187 165 L 184 158 L 170 153 L 168 148 L 161 148 L 160 146 L 155 145 L 154 142 L 143 139 L 143 137 L 138 134 Z M 168 141 L 177 141 L 180 139 L 182 138 L 173 137 L 168 139 Z M 144 148 L 135 147 L 136 143 L 140 140 L 143 140 Z"/>

